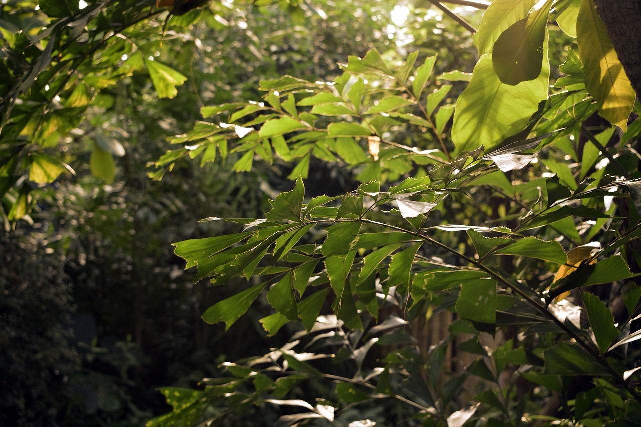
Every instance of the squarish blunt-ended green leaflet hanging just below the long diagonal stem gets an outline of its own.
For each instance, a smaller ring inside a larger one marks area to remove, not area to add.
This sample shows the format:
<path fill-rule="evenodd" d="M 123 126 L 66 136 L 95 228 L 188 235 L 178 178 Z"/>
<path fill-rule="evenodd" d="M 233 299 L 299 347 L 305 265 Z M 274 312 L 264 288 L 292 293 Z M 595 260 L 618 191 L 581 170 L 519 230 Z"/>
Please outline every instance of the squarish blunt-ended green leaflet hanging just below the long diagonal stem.
<path fill-rule="evenodd" d="M 463 319 L 486 324 L 496 323 L 496 281 L 477 279 L 461 285 L 456 312 Z"/>

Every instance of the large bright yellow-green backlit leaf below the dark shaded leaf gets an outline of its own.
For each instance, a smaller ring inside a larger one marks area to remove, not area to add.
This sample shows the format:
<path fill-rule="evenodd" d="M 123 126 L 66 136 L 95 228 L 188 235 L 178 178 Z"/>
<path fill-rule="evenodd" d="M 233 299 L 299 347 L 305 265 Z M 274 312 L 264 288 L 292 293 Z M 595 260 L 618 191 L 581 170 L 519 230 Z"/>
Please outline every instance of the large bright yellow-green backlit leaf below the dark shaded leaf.
<path fill-rule="evenodd" d="M 494 72 L 492 55 L 481 56 L 472 81 L 456 101 L 452 126 L 456 152 L 474 151 L 480 146 L 490 150 L 522 131 L 538 110 L 538 103 L 547 98 L 549 71 L 545 62 L 535 80 L 507 85 Z"/>

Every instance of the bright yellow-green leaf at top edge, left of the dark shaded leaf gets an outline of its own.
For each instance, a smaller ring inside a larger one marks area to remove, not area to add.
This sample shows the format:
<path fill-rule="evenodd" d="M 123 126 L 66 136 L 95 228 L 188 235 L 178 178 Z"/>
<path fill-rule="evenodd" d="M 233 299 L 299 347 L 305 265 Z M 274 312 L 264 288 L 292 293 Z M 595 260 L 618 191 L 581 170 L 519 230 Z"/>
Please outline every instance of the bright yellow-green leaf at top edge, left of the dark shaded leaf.
<path fill-rule="evenodd" d="M 476 33 L 476 47 L 479 55 L 492 52 L 494 42 L 514 22 L 528 16 L 529 10 L 537 3 L 536 0 L 495 0 L 490 4 L 478 33 Z"/>

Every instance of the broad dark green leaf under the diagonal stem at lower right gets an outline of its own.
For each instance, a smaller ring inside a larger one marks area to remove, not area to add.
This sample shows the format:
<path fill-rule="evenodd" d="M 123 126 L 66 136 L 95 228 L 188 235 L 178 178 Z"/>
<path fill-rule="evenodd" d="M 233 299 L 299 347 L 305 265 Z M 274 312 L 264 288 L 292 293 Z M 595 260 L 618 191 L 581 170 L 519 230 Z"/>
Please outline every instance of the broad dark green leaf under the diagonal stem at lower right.
<path fill-rule="evenodd" d="M 545 351 L 545 375 L 609 375 L 601 364 L 585 353 L 578 344 L 560 342 Z"/>

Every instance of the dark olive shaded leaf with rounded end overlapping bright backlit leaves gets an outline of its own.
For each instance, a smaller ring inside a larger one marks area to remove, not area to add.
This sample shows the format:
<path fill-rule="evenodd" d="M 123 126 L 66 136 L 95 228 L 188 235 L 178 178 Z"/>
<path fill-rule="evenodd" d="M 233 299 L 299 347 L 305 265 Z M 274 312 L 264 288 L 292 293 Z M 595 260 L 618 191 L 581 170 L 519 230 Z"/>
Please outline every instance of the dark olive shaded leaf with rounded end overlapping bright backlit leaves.
<path fill-rule="evenodd" d="M 552 0 L 527 18 L 520 19 L 503 31 L 494 43 L 492 63 L 503 83 L 518 85 L 521 81 L 534 80 L 541 73 L 544 61 L 545 24 Z"/>

